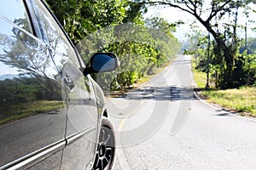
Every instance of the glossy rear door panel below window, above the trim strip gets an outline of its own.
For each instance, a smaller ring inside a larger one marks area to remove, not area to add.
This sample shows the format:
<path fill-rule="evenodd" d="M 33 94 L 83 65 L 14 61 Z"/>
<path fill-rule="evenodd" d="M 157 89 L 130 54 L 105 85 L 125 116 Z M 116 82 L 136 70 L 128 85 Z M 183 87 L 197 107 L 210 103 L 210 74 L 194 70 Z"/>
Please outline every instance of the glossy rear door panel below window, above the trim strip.
<path fill-rule="evenodd" d="M 65 144 L 58 73 L 41 40 L 0 16 L 0 169 L 57 141 Z"/>

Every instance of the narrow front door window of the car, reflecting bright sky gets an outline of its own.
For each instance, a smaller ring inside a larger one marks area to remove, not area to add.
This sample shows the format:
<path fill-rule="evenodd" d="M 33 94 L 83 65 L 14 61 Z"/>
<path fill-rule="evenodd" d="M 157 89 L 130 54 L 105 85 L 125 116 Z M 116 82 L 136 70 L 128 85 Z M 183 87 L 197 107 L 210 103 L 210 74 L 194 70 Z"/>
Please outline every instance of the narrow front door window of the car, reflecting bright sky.
<path fill-rule="evenodd" d="M 58 53 L 55 54 L 54 57 L 61 56 L 62 59 L 67 58 L 71 60 L 73 64 L 79 66 L 73 47 L 68 42 L 67 37 L 60 26 L 55 22 L 52 15 L 49 14 L 49 11 L 42 3 L 38 1 L 35 1 L 35 3 L 36 8 L 38 8 L 39 18 L 41 22 L 43 22 L 41 25 L 44 25 L 44 30 L 46 31 L 44 33 L 46 34 L 46 37 L 48 37 L 47 41 L 49 42 L 50 47 L 55 50 L 55 53 Z M 55 59 L 55 61 L 58 62 L 58 60 L 60 61 L 62 59 Z M 58 63 L 56 63 L 56 65 L 58 65 Z M 63 65 L 63 63 L 60 63 L 59 65 Z"/>

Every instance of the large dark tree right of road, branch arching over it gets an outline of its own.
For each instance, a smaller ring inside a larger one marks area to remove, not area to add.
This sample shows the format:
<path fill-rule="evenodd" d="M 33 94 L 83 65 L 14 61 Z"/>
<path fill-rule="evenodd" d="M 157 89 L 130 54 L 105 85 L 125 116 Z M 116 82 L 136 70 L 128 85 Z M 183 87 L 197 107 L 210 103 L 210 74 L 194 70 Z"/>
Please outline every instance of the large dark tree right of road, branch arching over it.
<path fill-rule="evenodd" d="M 145 3 L 179 8 L 192 14 L 212 34 L 216 42 L 214 53 L 222 68 L 221 88 L 236 88 L 233 73 L 239 47 L 236 34 L 239 27 L 238 16 L 241 14 L 241 9 L 243 14 L 248 15 L 249 4 L 255 3 L 254 0 L 148 0 Z"/>

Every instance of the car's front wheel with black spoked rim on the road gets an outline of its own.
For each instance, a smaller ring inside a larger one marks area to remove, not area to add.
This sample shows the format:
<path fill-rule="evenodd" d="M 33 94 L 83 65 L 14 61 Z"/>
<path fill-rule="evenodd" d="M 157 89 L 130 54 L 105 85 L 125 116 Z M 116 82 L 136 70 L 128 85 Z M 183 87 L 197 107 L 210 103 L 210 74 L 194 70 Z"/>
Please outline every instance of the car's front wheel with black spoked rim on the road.
<path fill-rule="evenodd" d="M 102 127 L 99 144 L 96 150 L 96 159 L 93 170 L 109 170 L 113 166 L 115 154 L 115 137 L 113 125 L 105 117 L 102 118 Z"/>

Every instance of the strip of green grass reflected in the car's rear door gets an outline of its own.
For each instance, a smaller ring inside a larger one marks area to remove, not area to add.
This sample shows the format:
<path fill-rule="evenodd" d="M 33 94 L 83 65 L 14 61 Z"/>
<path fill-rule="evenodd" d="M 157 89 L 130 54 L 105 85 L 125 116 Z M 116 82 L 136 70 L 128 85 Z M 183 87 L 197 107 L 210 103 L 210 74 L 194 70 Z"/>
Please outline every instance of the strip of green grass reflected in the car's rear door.
<path fill-rule="evenodd" d="M 61 108 L 63 108 L 63 103 L 61 101 L 46 100 L 10 105 L 7 108 L 0 108 L 0 124 L 12 122 L 27 116 L 34 116 L 40 113 L 56 111 Z"/>

